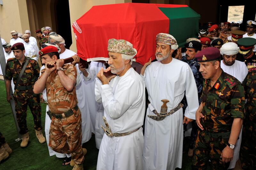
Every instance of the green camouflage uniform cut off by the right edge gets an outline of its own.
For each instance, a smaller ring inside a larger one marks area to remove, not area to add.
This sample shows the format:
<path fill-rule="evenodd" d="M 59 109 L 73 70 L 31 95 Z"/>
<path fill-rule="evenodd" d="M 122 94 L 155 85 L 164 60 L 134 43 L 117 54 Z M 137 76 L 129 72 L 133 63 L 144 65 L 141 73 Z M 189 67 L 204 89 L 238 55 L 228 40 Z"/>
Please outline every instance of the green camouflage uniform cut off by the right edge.
<path fill-rule="evenodd" d="M 240 149 L 243 169 L 256 169 L 256 68 L 251 68 L 244 79 L 245 105 L 244 128 Z"/>

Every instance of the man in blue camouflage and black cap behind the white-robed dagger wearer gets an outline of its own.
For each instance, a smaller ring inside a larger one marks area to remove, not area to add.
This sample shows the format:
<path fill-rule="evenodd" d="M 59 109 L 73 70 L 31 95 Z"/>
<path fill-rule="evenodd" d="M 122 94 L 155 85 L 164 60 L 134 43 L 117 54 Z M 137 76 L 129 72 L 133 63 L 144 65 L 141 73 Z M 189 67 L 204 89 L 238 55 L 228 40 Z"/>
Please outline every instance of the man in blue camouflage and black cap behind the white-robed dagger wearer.
<path fill-rule="evenodd" d="M 183 56 L 181 58 L 181 61 L 184 61 L 185 63 L 188 63 L 188 65 L 190 66 L 195 81 L 196 81 L 196 87 L 197 87 L 197 93 L 198 93 L 198 101 L 199 101 L 199 105 L 202 102 L 201 100 L 201 94 L 202 94 L 202 89 L 203 89 L 203 77 L 202 74 L 199 72 L 199 63 L 197 62 L 197 59 L 195 58 L 196 54 L 201 50 L 201 46 L 202 44 L 198 41 L 189 41 L 188 43 L 185 44 L 185 48 L 186 48 L 186 56 Z M 186 100 L 186 96 L 184 96 L 182 102 L 183 104 L 183 114 L 185 113 L 185 110 L 188 106 L 187 104 L 187 100 Z M 192 130 L 191 130 L 191 135 L 190 135 L 190 139 L 189 139 L 189 149 L 188 149 L 188 156 L 192 157 L 193 156 L 193 148 L 194 148 L 194 143 L 195 143 L 195 139 L 196 139 L 196 132 L 197 132 L 197 125 L 196 125 L 196 121 L 191 122 L 192 124 Z M 184 130 L 186 129 L 186 124 L 184 124 Z"/>

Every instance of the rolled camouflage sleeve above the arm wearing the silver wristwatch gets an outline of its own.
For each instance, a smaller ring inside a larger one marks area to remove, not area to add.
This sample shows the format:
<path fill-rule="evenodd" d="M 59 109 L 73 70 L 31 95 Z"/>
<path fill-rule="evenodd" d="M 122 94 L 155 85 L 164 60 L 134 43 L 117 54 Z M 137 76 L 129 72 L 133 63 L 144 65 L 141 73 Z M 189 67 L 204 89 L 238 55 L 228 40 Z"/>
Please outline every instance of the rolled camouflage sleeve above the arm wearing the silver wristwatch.
<path fill-rule="evenodd" d="M 241 118 L 244 119 L 244 105 L 245 105 L 245 97 L 244 97 L 244 87 L 241 84 L 236 85 L 230 91 L 231 95 L 231 117 L 232 118 Z"/>

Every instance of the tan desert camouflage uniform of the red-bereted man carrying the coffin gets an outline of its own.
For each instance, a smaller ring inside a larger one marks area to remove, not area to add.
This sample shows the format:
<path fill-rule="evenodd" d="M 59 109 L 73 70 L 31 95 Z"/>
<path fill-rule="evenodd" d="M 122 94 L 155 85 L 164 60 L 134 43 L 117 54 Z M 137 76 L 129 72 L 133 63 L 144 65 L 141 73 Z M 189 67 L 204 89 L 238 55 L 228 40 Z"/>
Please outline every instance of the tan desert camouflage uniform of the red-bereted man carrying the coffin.
<path fill-rule="evenodd" d="M 63 65 L 62 68 L 64 73 L 76 82 L 76 67 L 71 64 L 66 64 Z M 44 71 L 45 69 L 41 71 L 41 76 L 44 74 Z M 71 153 L 75 163 L 82 164 L 84 155 L 81 146 L 81 113 L 79 109 L 77 111 L 74 109 L 78 103 L 76 87 L 74 87 L 72 91 L 67 91 L 61 84 L 59 75 L 55 70 L 47 78 L 45 88 L 50 112 L 57 115 L 68 112 L 69 110 L 74 112 L 73 115 L 62 119 L 57 119 L 52 116 L 49 146 L 53 151 L 59 153 Z"/>

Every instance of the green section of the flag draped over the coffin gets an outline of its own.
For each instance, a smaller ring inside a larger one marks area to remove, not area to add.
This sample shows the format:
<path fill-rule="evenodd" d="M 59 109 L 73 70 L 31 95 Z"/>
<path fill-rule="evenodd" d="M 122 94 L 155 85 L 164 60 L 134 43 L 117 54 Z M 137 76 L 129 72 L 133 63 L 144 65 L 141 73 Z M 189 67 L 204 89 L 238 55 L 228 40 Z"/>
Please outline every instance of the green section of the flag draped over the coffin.
<path fill-rule="evenodd" d="M 179 47 L 184 47 L 188 38 L 198 38 L 200 15 L 189 7 L 159 9 L 170 19 L 169 34 L 175 37 Z"/>

